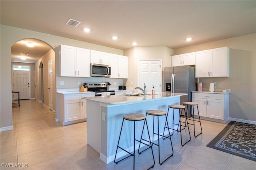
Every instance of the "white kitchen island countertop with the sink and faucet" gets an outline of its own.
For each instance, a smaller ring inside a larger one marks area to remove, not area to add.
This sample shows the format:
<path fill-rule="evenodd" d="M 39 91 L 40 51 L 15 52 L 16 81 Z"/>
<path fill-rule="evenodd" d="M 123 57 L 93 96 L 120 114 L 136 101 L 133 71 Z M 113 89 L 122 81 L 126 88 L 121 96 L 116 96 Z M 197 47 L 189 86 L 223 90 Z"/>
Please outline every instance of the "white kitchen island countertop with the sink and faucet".
<path fill-rule="evenodd" d="M 126 103 L 138 103 L 138 102 L 146 102 L 149 100 L 160 100 L 163 98 L 172 98 L 187 95 L 186 93 L 156 93 L 155 95 L 146 95 L 139 97 L 130 97 L 123 95 L 110 95 L 110 96 L 96 96 L 96 97 L 82 97 L 82 99 L 98 101 L 101 103 L 106 103 L 109 105 L 121 105 Z"/>

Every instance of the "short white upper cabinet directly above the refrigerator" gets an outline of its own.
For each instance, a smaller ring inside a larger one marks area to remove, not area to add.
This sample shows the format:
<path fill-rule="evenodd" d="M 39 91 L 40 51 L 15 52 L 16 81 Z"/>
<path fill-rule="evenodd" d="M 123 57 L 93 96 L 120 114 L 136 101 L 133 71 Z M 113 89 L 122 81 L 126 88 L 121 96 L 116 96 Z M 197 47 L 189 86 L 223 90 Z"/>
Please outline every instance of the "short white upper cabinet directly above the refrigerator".
<path fill-rule="evenodd" d="M 173 55 L 172 57 L 172 67 L 181 65 L 195 65 L 195 53 L 186 53 L 180 55 Z"/>

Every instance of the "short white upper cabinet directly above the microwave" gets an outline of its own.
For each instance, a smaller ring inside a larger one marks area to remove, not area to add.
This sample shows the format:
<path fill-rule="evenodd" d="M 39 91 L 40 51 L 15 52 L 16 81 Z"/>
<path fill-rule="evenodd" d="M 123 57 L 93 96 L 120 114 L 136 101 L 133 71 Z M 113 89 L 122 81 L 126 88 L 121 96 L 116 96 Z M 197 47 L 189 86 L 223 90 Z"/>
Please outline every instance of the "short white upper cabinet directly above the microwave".
<path fill-rule="evenodd" d="M 91 50 L 91 63 L 110 65 L 110 53 Z"/>

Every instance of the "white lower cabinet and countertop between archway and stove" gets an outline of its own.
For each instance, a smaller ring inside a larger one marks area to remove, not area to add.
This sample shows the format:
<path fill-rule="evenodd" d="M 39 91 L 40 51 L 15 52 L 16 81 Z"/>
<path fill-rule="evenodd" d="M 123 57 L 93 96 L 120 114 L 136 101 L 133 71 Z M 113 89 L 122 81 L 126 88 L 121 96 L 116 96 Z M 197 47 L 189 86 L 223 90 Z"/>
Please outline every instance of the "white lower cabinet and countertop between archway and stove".
<path fill-rule="evenodd" d="M 62 94 L 58 93 L 58 118 L 63 126 L 86 121 L 86 99 L 94 93 Z"/>

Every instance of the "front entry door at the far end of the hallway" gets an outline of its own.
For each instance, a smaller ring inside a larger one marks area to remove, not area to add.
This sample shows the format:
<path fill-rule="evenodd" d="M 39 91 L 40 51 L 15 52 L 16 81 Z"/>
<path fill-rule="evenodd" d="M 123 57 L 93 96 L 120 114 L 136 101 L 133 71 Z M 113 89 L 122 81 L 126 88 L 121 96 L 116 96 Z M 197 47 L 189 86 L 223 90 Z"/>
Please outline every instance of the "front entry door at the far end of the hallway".
<path fill-rule="evenodd" d="M 13 70 L 12 76 L 12 90 L 20 91 L 20 99 L 30 99 L 30 71 Z"/>

